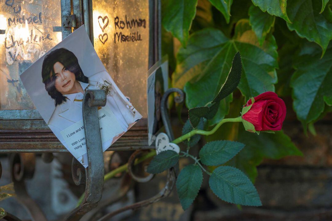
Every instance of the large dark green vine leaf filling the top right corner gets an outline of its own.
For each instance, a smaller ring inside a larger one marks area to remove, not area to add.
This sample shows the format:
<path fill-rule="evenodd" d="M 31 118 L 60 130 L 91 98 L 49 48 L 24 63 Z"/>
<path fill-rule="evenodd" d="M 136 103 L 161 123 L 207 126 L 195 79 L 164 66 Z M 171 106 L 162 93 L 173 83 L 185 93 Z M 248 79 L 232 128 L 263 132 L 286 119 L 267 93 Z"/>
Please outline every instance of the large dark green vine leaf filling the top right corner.
<path fill-rule="evenodd" d="M 321 0 L 292 0 L 288 2 L 287 12 L 292 24 L 287 24 L 290 30 L 295 30 L 300 37 L 319 44 L 324 55 L 332 39 L 332 12 L 325 10 L 320 14 Z"/>

